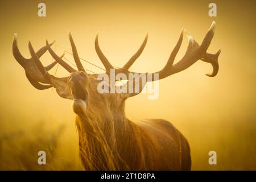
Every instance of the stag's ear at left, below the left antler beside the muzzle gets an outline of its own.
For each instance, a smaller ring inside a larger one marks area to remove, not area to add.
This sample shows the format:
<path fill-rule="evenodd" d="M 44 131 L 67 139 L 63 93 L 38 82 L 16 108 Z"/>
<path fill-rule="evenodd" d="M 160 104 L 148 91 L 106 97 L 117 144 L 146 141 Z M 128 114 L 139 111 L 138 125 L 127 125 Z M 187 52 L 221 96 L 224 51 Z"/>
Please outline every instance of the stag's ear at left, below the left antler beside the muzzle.
<path fill-rule="evenodd" d="M 56 89 L 56 92 L 57 94 L 59 94 L 60 97 L 73 100 L 71 90 L 69 89 L 69 86 L 67 83 L 68 77 L 56 78 L 51 75 L 49 79 L 51 80 L 51 84 Z"/>

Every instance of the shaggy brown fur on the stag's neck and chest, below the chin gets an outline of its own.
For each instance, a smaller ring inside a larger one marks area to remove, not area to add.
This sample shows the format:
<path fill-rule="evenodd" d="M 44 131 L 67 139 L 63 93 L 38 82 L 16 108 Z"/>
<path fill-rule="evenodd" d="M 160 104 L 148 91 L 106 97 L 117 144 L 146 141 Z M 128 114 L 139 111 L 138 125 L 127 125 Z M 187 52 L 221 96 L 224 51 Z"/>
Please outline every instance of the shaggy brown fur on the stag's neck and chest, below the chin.
<path fill-rule="evenodd" d="M 124 102 L 77 115 L 80 158 L 86 170 L 138 170 L 152 165 L 145 156 L 154 156 L 154 142 L 125 117 Z"/>

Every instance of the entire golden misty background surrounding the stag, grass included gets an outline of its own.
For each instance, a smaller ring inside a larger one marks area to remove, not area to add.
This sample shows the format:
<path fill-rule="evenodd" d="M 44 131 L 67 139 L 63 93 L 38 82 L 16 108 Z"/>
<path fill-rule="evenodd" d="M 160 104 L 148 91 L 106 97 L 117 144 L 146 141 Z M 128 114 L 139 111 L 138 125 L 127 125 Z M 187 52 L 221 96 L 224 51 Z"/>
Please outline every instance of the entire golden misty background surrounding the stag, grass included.
<path fill-rule="evenodd" d="M 40 2 L 46 3 L 46 17 L 38 16 Z M 210 2 L 217 4 L 217 17 L 208 16 Z M 194 170 L 256 169 L 255 7 L 255 1 L 1 1 L 0 169 L 82 169 L 71 101 L 53 89 L 32 87 L 12 54 L 15 33 L 28 58 L 28 40 L 35 49 L 46 39 L 56 40 L 59 55 L 69 51 L 71 30 L 80 57 L 103 67 L 94 50 L 99 32 L 102 51 L 122 67 L 148 32 L 131 71 L 154 72 L 166 64 L 181 28 L 200 44 L 213 20 L 216 32 L 208 52 L 222 49 L 218 75 L 205 76 L 211 65 L 197 61 L 160 80 L 158 100 L 148 100 L 147 94 L 127 100 L 126 114 L 132 120 L 171 121 L 191 145 Z M 176 61 L 186 47 L 184 37 Z M 52 58 L 46 53 L 41 60 L 47 65 Z M 57 69 L 56 76 L 67 75 Z M 39 150 L 47 152 L 46 166 L 37 164 Z M 208 163 L 211 150 L 217 152 L 217 165 Z"/>

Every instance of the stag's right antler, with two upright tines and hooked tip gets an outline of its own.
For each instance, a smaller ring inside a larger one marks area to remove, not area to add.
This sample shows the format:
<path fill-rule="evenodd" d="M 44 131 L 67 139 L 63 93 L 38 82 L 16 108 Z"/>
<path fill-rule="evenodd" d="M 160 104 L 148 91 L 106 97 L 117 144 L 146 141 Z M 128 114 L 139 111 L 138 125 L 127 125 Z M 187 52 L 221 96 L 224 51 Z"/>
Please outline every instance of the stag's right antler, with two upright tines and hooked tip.
<path fill-rule="evenodd" d="M 164 68 L 161 71 L 155 72 L 155 73 L 159 74 L 158 80 L 168 77 L 170 75 L 173 75 L 174 73 L 183 71 L 184 69 L 187 69 L 192 64 L 196 63 L 197 60 L 202 60 L 202 61 L 212 64 L 213 72 L 211 74 L 206 74 L 206 75 L 210 76 L 210 77 L 216 76 L 218 73 L 218 56 L 220 55 L 221 50 L 219 50 L 215 54 L 206 52 L 210 45 L 210 42 L 213 38 L 215 26 L 216 26 L 216 23 L 213 21 L 212 25 L 210 26 L 210 28 L 207 32 L 207 35 L 205 35 L 205 38 L 204 38 L 201 46 L 199 46 L 199 44 L 192 38 L 191 35 L 189 35 L 189 33 L 186 30 L 182 29 L 179 40 L 178 40 L 175 48 L 171 52 L 171 55 L 167 61 L 167 64 L 164 66 Z M 174 64 L 175 57 L 177 55 L 177 52 L 180 49 L 180 46 L 181 46 L 181 43 L 183 40 L 184 32 L 188 36 L 188 40 L 189 40 L 188 48 L 187 48 L 187 51 L 186 51 L 185 55 L 183 56 L 183 58 L 179 62 Z M 119 69 L 115 69 L 116 74 L 117 73 L 125 73 L 126 76 L 129 76 L 129 73 L 135 73 L 135 72 L 128 71 L 128 69 L 131 67 L 131 65 L 134 63 L 134 61 L 141 55 L 141 53 L 146 45 L 146 42 L 147 42 L 147 36 L 144 39 L 142 46 L 134 54 L 134 56 L 131 57 L 131 59 L 125 64 L 125 66 L 123 66 L 122 68 L 119 68 Z M 101 49 L 98 46 L 98 35 L 96 36 L 95 47 L 96 47 L 96 52 L 98 53 L 98 56 L 100 57 L 102 63 L 104 64 L 104 66 L 106 68 L 106 72 L 109 72 L 109 69 L 113 68 L 113 66 L 109 63 L 108 59 L 106 59 L 106 57 L 103 55 Z M 138 73 L 138 74 L 141 74 L 141 73 Z M 154 73 L 152 73 L 152 74 L 154 74 Z M 151 81 L 155 81 L 154 78 Z"/>

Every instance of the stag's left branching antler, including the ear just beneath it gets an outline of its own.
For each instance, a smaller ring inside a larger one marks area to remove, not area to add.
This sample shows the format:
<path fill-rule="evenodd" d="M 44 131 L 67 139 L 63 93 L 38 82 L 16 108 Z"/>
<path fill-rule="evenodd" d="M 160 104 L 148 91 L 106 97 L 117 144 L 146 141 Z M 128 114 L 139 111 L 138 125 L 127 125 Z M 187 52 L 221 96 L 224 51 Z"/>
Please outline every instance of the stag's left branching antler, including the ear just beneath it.
<path fill-rule="evenodd" d="M 73 42 L 71 33 L 69 32 L 69 40 L 71 42 L 71 47 L 73 51 L 73 57 L 75 59 L 77 68 L 79 71 L 84 71 L 84 68 L 82 67 L 82 64 L 80 62 L 75 43 Z M 76 69 L 73 69 L 71 66 L 69 66 L 65 61 L 62 60 L 62 56 L 57 56 L 56 53 L 52 50 L 51 46 L 54 42 L 48 43 L 46 40 L 46 46 L 39 49 L 39 51 L 35 52 L 34 48 L 32 47 L 32 44 L 28 42 L 28 49 L 30 50 L 30 59 L 25 59 L 21 53 L 19 52 L 18 46 L 17 46 L 17 35 L 14 35 L 13 40 L 13 55 L 15 59 L 18 61 L 20 65 L 24 68 L 26 72 L 26 76 L 28 78 L 28 81 L 39 90 L 44 90 L 51 88 L 52 86 L 56 88 L 57 93 L 64 98 L 68 98 L 72 100 L 72 94 L 70 93 L 70 90 L 67 86 L 67 80 L 68 77 L 63 78 L 57 78 L 55 76 L 50 75 L 47 71 L 54 67 L 56 63 L 59 63 L 61 66 L 63 66 L 65 69 L 67 69 L 68 72 L 75 72 Z M 49 53 L 51 53 L 54 61 L 52 64 L 49 64 L 48 66 L 44 67 L 43 64 L 40 62 L 39 58 L 47 51 L 49 50 Z M 43 84 L 41 84 L 41 83 Z"/>

